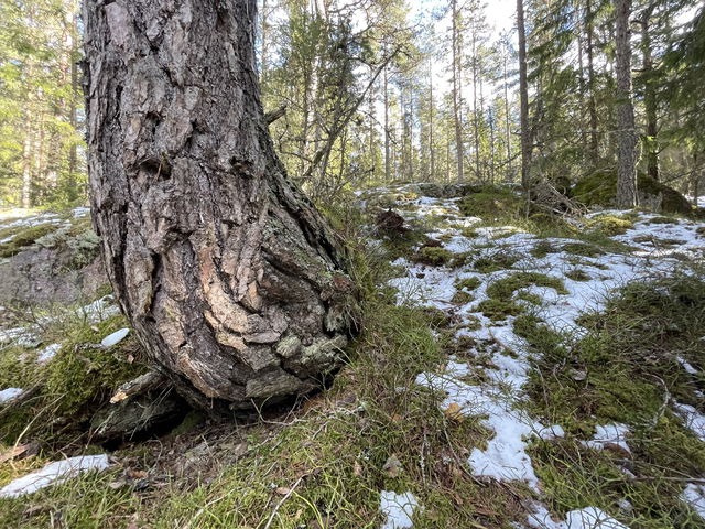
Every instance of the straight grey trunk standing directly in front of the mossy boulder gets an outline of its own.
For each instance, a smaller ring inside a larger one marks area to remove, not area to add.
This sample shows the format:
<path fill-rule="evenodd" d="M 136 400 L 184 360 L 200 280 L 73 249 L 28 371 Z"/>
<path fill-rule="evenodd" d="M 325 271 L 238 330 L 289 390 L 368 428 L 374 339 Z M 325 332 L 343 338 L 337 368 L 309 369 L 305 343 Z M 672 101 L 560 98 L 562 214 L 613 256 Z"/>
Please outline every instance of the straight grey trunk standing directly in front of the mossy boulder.
<path fill-rule="evenodd" d="M 616 2 L 616 76 L 617 76 L 617 207 L 637 206 L 637 132 L 631 97 L 631 43 L 629 17 L 631 0 Z"/>

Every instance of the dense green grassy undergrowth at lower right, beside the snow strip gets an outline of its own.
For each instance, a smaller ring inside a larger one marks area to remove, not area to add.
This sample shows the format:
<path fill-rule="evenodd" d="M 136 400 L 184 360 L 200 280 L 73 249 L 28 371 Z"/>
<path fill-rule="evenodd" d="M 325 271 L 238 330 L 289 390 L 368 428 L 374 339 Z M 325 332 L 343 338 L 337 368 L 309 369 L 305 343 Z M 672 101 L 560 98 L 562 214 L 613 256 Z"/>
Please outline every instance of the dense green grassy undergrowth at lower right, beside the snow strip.
<path fill-rule="evenodd" d="M 521 314 L 514 332 L 541 352 L 525 388 L 530 413 L 561 424 L 567 435 L 536 441 L 530 454 L 552 510 L 594 505 L 631 528 L 703 528 L 705 522 L 679 496 L 688 476 L 705 471 L 705 444 L 676 418 L 666 396 L 703 409 L 693 390 L 702 375 L 688 375 L 675 356 L 705 367 L 705 281 L 676 274 L 631 283 L 604 313 L 581 322 L 588 334 L 576 338 Z M 596 424 L 626 423 L 631 456 L 588 450 Z M 627 465 L 637 479 L 620 466 Z M 633 510 L 620 510 L 627 499 Z"/>

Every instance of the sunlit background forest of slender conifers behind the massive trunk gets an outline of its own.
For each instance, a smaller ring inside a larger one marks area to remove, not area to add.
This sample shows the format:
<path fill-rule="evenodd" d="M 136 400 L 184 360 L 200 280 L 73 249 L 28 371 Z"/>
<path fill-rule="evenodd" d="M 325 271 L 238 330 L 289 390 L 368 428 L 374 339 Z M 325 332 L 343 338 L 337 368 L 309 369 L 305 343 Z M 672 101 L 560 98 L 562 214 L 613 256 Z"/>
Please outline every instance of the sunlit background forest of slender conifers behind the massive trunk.
<path fill-rule="evenodd" d="M 697 196 L 705 165 L 703 6 L 628 3 L 638 171 Z M 0 204 L 83 204 L 79 2 L 0 6 Z M 516 20 L 509 6 L 506 15 Z M 521 180 L 516 24 L 498 31 L 476 0 L 422 7 L 260 1 L 262 102 L 290 175 L 314 199 L 390 182 Z M 622 100 L 616 3 L 524 1 L 523 9 L 531 181 L 561 190 L 589 175 L 608 177 Z"/>

